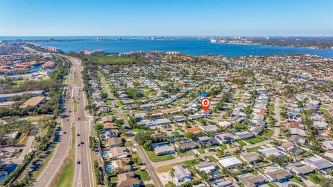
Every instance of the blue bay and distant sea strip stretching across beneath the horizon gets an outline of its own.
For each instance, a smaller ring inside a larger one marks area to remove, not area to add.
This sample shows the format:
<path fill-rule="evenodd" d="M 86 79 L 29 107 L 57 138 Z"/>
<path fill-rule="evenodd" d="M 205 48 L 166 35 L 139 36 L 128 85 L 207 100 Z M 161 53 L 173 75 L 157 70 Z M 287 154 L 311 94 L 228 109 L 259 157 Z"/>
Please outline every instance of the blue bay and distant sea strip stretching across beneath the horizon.
<path fill-rule="evenodd" d="M 22 37 L 20 37 L 22 38 Z M 23 37 L 22 39 L 78 39 L 78 38 L 119 38 L 103 36 L 85 36 L 85 37 Z M 121 37 L 126 38 L 126 37 Z M 132 36 L 132 38 L 135 38 Z M 1 37 L 0 39 L 13 40 L 17 37 Z M 197 40 L 182 38 L 180 40 L 112 40 L 112 41 L 71 41 L 71 42 L 36 42 L 43 46 L 60 47 L 65 52 L 79 52 L 80 50 L 105 49 L 109 53 L 126 51 L 180 51 L 181 54 L 191 56 L 200 56 L 203 54 L 215 54 L 228 57 L 237 56 L 266 56 L 282 54 L 315 54 L 324 58 L 333 58 L 333 49 L 307 49 L 300 47 L 273 47 L 259 44 L 216 44 L 209 40 Z"/>

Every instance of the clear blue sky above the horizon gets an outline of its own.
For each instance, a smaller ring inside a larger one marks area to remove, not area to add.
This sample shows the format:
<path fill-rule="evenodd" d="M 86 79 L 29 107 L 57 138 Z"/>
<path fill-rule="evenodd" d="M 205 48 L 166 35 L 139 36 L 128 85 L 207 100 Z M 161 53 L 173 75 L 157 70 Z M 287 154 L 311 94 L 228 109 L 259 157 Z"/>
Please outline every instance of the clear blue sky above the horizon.
<path fill-rule="evenodd" d="M 332 36 L 333 0 L 0 0 L 0 36 Z"/>

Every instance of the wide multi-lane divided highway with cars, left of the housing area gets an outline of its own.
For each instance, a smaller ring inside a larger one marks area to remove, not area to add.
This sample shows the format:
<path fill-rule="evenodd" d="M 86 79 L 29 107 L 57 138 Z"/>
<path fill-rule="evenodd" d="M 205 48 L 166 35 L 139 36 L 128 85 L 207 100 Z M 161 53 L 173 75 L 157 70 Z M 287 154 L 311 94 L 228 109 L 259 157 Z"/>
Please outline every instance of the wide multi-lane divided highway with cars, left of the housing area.
<path fill-rule="evenodd" d="M 62 55 L 59 55 L 62 56 Z M 83 81 L 81 75 L 81 61 L 69 56 L 62 56 L 71 61 L 68 86 L 66 86 L 65 112 L 60 118 L 62 133 L 60 142 L 56 145 L 49 163 L 35 180 L 33 186 L 50 186 L 51 181 L 64 163 L 69 153 L 72 133 L 71 125 L 76 126 L 75 138 L 75 173 L 73 186 L 94 186 L 92 172 L 92 161 L 89 152 L 89 133 L 91 130 L 89 117 L 85 110 L 85 93 L 83 92 Z M 74 101 L 77 109 L 74 111 Z M 78 146 L 80 145 L 80 146 Z"/>

